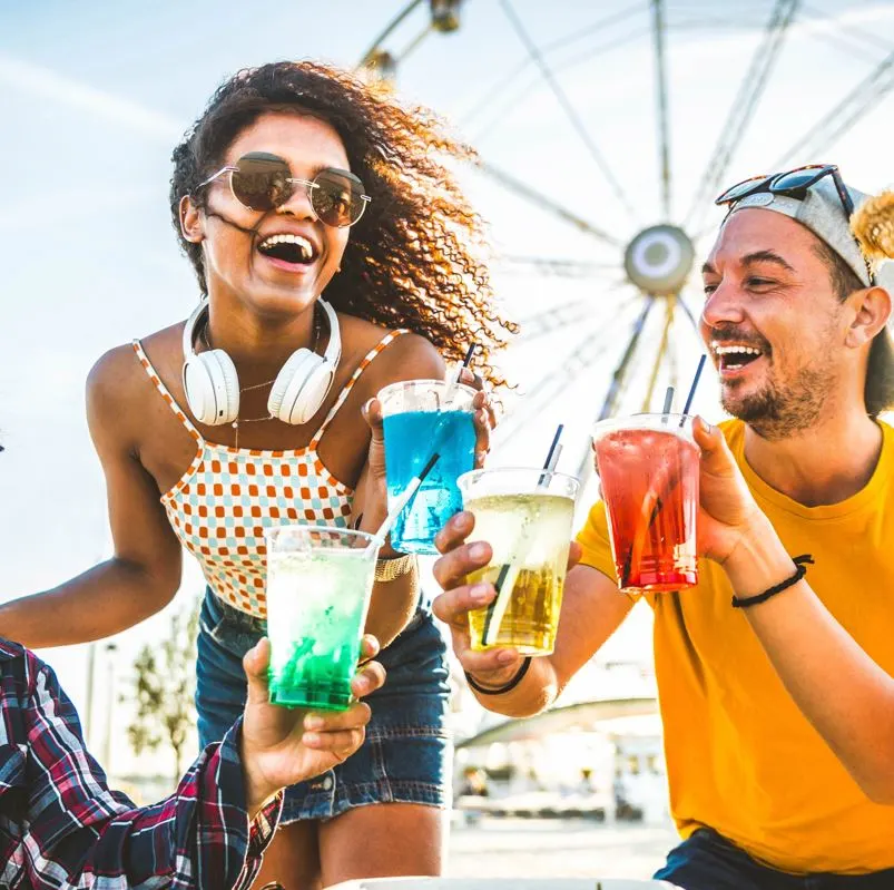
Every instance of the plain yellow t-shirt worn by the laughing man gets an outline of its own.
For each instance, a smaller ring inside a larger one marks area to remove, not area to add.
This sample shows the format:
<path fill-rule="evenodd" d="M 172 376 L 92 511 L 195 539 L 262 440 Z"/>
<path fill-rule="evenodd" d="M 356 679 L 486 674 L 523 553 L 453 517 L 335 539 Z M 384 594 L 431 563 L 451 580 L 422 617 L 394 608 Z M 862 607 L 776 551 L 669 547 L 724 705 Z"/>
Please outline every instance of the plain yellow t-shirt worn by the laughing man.
<path fill-rule="evenodd" d="M 816 560 L 811 587 L 894 674 L 894 429 L 881 427 L 882 456 L 868 485 L 841 503 L 803 507 L 748 467 L 745 426 L 721 424 L 788 552 Z M 601 501 L 578 540 L 584 565 L 617 580 Z M 872 803 L 800 714 L 731 596 L 723 569 L 700 560 L 697 587 L 647 597 L 680 833 L 709 827 L 795 873 L 894 868 L 894 806 Z M 894 751 L 891 757 L 894 769 Z"/>

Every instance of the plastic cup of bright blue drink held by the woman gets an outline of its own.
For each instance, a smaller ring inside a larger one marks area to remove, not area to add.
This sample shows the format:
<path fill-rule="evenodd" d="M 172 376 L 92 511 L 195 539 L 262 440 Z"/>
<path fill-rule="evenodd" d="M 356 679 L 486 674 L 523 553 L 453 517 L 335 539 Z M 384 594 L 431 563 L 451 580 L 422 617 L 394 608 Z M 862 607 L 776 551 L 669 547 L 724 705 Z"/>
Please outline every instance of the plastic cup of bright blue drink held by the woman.
<path fill-rule="evenodd" d="M 415 497 L 391 531 L 395 550 L 436 554 L 434 536 L 462 509 L 456 479 L 474 468 L 475 391 L 456 387 L 449 404 L 448 384 L 440 380 L 395 383 L 379 393 L 385 427 L 385 481 L 389 507 L 419 476 L 436 451 L 432 467 Z M 443 410 L 441 405 L 444 404 Z"/>

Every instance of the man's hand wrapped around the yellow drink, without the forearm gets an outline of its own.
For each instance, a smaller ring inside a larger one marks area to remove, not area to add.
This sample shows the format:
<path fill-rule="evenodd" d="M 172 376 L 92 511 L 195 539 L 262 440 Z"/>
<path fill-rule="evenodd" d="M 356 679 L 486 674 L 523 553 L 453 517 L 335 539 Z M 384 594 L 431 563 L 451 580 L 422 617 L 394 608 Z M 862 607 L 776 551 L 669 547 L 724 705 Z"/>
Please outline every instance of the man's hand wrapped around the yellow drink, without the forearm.
<path fill-rule="evenodd" d="M 469 585 L 465 576 L 490 563 L 493 554 L 484 541 L 466 544 L 475 520 L 470 512 L 456 514 L 435 538 L 443 556 L 434 564 L 434 578 L 444 591 L 435 597 L 434 614 L 450 627 L 453 652 L 463 669 L 482 686 L 498 687 L 508 683 L 521 667 L 523 656 L 514 648 L 474 652 L 470 647 L 469 613 L 488 605 L 497 591 L 492 584 Z M 580 545 L 572 542 L 569 568 L 580 559 Z"/>

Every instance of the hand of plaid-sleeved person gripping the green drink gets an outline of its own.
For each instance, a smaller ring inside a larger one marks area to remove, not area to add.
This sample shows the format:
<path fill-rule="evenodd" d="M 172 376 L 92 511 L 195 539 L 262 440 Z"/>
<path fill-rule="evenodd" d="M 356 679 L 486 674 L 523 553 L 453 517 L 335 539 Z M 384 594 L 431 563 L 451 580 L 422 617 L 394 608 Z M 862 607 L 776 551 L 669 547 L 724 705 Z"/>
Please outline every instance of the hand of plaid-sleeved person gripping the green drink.
<path fill-rule="evenodd" d="M 363 638 L 361 658 L 379 653 L 375 637 Z M 267 701 L 269 640 L 262 639 L 243 658 L 248 697 L 242 727 L 240 755 L 249 819 L 279 789 L 303 782 L 347 760 L 363 744 L 370 706 L 357 702 L 342 713 L 291 710 Z M 377 662 L 364 664 L 351 683 L 361 698 L 380 688 L 385 669 Z"/>

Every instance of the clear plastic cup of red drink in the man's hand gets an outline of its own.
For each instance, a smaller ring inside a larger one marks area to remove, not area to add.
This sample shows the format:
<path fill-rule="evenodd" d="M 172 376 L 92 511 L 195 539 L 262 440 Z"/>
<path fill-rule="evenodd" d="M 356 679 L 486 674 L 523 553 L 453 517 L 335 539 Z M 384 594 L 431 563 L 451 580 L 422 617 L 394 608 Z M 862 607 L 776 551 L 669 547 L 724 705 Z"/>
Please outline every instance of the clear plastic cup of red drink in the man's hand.
<path fill-rule="evenodd" d="M 593 448 L 619 587 L 662 593 L 697 584 L 699 449 L 691 420 L 635 414 L 602 421 Z"/>

